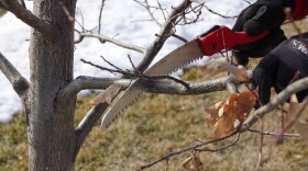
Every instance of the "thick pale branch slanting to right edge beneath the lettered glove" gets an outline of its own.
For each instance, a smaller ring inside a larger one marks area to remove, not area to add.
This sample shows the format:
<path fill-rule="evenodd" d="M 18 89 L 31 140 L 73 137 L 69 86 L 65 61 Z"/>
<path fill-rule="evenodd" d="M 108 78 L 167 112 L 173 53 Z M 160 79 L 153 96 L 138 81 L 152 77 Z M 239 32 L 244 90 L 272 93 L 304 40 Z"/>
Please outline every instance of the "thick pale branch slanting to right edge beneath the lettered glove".
<path fill-rule="evenodd" d="M 284 91 L 277 94 L 270 103 L 260 107 L 254 113 L 252 113 L 243 123 L 242 128 L 245 130 L 246 128 L 251 127 L 258 118 L 263 117 L 264 115 L 268 114 L 271 111 L 278 107 L 279 104 L 286 102 L 292 94 L 307 90 L 308 89 L 308 78 L 300 79 L 293 84 L 288 86 Z"/>

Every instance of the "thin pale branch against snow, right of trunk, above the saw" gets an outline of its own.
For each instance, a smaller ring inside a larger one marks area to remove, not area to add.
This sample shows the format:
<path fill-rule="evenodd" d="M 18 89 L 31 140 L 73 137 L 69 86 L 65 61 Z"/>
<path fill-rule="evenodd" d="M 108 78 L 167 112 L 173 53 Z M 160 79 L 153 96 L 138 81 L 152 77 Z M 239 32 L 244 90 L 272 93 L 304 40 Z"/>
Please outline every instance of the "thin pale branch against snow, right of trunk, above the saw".
<path fill-rule="evenodd" d="M 103 35 L 96 35 L 96 34 L 91 34 L 91 33 L 81 33 L 79 35 L 79 37 L 77 39 L 75 39 L 75 44 L 78 44 L 78 43 L 82 42 L 82 39 L 85 37 L 98 38 L 101 43 L 109 42 L 109 43 L 112 43 L 112 44 L 118 45 L 120 47 L 139 52 L 141 54 L 145 54 L 145 52 L 146 52 L 143 47 L 135 46 L 135 45 L 132 45 L 132 44 L 122 43 L 122 42 L 117 41 L 117 39 L 111 38 L 111 37 L 107 37 L 107 36 L 103 36 Z"/>

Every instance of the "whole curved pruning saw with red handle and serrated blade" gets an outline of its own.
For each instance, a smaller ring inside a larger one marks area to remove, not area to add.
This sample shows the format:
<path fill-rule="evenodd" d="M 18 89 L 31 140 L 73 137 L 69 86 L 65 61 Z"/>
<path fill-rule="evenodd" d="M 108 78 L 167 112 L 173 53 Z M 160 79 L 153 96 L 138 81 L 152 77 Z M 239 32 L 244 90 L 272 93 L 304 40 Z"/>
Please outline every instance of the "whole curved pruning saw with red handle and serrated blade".
<path fill-rule="evenodd" d="M 253 43 L 268 34 L 268 31 L 264 31 L 257 36 L 249 36 L 245 32 L 233 32 L 227 26 L 215 25 L 208 32 L 163 57 L 151 68 L 145 70 L 144 75 L 169 75 L 202 58 L 202 56 L 212 56 L 223 49 L 230 50 L 234 46 Z M 145 81 L 145 78 L 138 78 L 125 91 L 119 93 L 117 98 L 114 98 L 102 117 L 102 128 L 107 128 L 128 105 L 133 103 L 143 93 Z"/>

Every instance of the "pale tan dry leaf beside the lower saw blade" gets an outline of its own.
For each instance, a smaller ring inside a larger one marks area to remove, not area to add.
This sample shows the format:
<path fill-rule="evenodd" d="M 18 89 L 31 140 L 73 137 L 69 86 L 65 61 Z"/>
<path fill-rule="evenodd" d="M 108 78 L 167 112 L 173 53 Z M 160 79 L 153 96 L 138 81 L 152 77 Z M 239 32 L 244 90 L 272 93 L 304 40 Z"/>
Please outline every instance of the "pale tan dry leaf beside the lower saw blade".
<path fill-rule="evenodd" d="M 119 84 L 112 84 L 112 86 L 108 87 L 105 91 L 102 91 L 94 100 L 91 100 L 90 104 L 98 105 L 99 103 L 105 103 L 105 102 L 110 104 L 112 99 L 119 93 L 121 88 L 122 87 Z"/>

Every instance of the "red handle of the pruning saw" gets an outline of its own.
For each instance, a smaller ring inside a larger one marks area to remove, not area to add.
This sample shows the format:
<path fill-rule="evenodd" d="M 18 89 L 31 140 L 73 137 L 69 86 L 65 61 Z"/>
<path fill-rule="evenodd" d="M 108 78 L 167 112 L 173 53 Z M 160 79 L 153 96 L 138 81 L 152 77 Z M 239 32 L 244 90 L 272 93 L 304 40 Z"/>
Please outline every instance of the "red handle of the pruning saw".
<path fill-rule="evenodd" d="M 264 31 L 257 36 L 249 36 L 246 32 L 233 32 L 227 26 L 216 25 L 207 33 L 199 36 L 202 52 L 206 56 L 211 56 L 223 49 L 230 50 L 237 45 L 244 45 L 258 41 L 270 34 Z"/>

